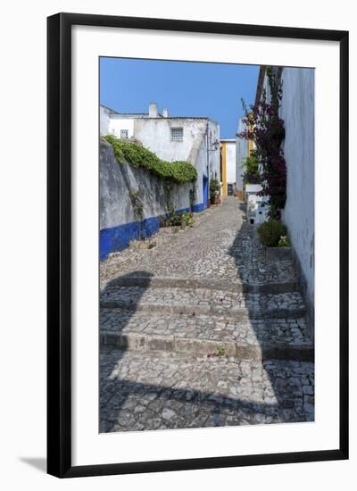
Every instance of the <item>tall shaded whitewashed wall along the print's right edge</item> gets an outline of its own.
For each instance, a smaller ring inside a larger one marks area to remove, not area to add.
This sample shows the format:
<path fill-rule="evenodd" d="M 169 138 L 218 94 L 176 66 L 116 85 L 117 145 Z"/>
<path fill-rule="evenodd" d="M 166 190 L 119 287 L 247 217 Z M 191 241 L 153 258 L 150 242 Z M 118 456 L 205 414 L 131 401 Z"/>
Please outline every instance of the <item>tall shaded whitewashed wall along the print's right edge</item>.
<path fill-rule="evenodd" d="M 286 138 L 286 222 L 312 317 L 314 303 L 314 70 L 284 68 L 280 115 Z"/>

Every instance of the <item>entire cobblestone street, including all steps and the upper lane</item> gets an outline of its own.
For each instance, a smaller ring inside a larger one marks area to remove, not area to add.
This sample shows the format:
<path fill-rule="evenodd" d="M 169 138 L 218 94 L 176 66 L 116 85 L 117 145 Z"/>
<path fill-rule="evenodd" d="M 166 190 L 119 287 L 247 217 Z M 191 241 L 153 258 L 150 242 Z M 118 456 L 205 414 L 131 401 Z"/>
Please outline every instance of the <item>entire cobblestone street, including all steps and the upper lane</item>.
<path fill-rule="evenodd" d="M 313 343 L 291 260 L 227 198 L 101 263 L 101 431 L 313 420 Z"/>

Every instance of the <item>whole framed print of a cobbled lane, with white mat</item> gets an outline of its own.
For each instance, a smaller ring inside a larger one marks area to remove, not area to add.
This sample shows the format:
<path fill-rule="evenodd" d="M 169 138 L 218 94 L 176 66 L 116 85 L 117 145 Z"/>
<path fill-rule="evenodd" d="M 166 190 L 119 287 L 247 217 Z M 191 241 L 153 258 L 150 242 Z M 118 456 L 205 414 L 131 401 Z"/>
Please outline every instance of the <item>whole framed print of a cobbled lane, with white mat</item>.
<path fill-rule="evenodd" d="M 48 18 L 48 472 L 348 458 L 348 33 Z"/>

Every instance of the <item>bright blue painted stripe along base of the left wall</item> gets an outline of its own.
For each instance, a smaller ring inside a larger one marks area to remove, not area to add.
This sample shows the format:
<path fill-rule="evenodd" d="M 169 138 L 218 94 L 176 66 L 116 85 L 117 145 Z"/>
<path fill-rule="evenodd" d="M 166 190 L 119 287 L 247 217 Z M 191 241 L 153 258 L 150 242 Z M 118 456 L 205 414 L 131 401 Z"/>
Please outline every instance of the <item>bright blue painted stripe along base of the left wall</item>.
<path fill-rule="evenodd" d="M 194 204 L 194 212 L 203 211 L 203 203 Z M 179 213 L 188 212 L 189 208 L 179 210 Z M 144 237 L 153 236 L 160 227 L 161 216 L 145 218 L 142 222 L 142 234 Z M 122 251 L 128 247 L 130 240 L 139 238 L 139 222 L 132 221 L 111 229 L 102 229 L 100 231 L 100 260 L 103 261 L 108 254 L 116 251 Z"/>

